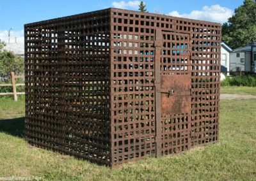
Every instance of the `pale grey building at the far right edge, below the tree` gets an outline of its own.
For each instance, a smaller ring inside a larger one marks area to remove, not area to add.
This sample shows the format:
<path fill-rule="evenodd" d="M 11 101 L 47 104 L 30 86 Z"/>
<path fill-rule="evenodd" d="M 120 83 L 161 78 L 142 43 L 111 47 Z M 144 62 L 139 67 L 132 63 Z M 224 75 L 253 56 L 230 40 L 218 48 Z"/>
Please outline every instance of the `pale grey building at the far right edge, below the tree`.
<path fill-rule="evenodd" d="M 256 73 L 256 43 L 236 48 L 231 52 L 230 71 L 253 71 Z"/>

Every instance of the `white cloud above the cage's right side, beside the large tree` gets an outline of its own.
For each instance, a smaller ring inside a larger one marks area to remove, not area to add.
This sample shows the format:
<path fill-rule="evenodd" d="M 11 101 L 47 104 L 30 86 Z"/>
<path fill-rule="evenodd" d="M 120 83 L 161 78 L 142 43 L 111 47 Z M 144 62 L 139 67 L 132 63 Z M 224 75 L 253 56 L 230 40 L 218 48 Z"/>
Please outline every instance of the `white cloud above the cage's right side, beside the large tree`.
<path fill-rule="evenodd" d="M 172 11 L 168 13 L 168 15 L 173 16 L 173 17 L 182 17 L 182 18 L 191 18 L 191 19 L 196 19 L 196 20 L 205 20 L 205 21 L 210 21 L 210 22 L 219 22 L 219 23 L 224 23 L 228 21 L 228 18 L 231 17 L 233 14 L 233 11 L 221 7 L 220 4 L 212 5 L 211 7 L 209 6 L 204 6 L 201 11 L 195 10 L 191 11 L 189 14 L 182 14 L 178 11 Z"/>

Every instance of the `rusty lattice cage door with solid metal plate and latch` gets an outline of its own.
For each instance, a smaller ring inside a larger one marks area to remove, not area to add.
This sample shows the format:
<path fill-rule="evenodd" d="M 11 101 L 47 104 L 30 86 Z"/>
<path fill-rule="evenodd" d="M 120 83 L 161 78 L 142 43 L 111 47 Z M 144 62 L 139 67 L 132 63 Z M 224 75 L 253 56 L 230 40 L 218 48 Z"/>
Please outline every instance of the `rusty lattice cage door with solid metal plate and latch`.
<path fill-rule="evenodd" d="M 156 31 L 156 155 L 190 148 L 189 34 Z"/>

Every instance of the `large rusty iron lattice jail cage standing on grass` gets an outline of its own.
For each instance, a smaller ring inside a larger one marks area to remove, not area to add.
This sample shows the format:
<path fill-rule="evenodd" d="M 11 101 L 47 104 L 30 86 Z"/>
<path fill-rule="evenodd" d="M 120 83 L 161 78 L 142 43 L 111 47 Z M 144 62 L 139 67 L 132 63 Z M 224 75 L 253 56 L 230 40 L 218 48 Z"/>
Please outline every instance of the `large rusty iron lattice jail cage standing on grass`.
<path fill-rule="evenodd" d="M 221 24 L 108 8 L 24 27 L 31 145 L 118 166 L 218 141 Z"/>

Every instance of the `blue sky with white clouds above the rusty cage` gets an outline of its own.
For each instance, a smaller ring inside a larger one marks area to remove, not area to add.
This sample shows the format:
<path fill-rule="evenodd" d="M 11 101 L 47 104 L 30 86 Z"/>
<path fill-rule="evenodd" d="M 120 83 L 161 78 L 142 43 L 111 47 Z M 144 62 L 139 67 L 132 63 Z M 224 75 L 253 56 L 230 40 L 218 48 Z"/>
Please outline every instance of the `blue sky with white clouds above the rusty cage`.
<path fill-rule="evenodd" d="M 186 17 L 211 22 L 227 22 L 243 0 L 145 0 L 150 13 Z M 140 1 L 119 0 L 0 0 L 0 40 L 22 44 L 24 24 L 76 15 L 104 8 L 138 10 Z"/>

